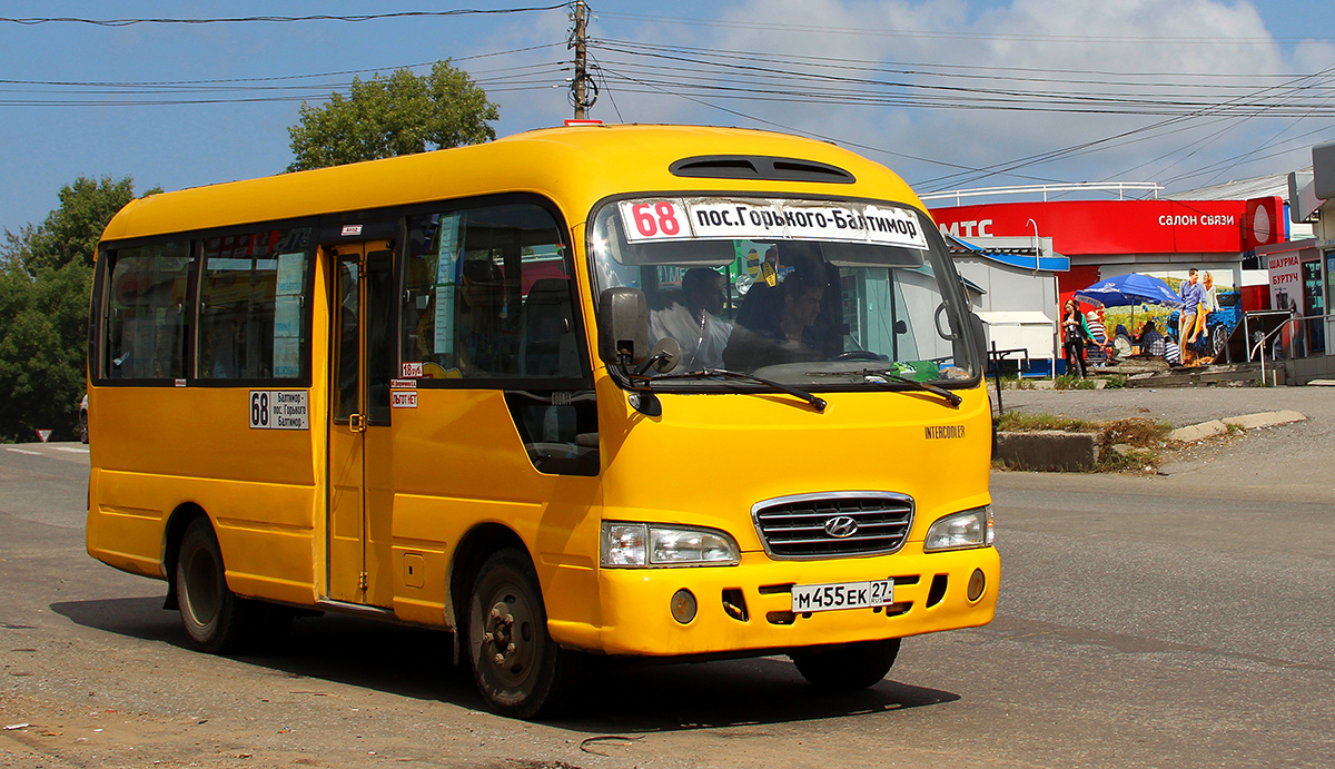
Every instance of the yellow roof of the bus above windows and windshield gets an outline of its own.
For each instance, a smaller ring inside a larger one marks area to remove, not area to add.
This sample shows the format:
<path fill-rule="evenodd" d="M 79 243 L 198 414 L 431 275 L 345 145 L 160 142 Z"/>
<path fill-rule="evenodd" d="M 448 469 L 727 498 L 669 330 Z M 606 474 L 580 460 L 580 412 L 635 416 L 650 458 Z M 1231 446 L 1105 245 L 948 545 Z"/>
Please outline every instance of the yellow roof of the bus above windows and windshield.
<path fill-rule="evenodd" d="M 814 160 L 848 171 L 854 182 L 684 178 L 669 171 L 677 160 L 708 155 Z M 103 240 L 501 192 L 545 195 L 562 208 L 567 223 L 577 226 L 585 222 L 594 203 L 609 195 L 666 191 L 837 195 L 922 208 L 889 168 L 825 142 L 746 128 L 575 125 L 527 131 L 470 147 L 151 195 L 125 206 L 107 226 Z"/>

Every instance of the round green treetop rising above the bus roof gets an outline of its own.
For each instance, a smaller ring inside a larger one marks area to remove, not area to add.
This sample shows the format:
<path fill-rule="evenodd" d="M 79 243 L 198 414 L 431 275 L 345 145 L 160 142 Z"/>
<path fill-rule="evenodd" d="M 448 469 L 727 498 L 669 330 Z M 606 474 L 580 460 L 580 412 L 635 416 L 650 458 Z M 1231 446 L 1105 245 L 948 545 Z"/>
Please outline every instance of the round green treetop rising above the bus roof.
<path fill-rule="evenodd" d="M 334 93 L 322 107 L 303 103 L 300 115 L 287 130 L 296 158 L 288 171 L 490 142 L 497 134 L 487 120 L 501 116 L 449 60 L 421 77 L 406 68 L 388 77 L 354 77 L 347 97 Z"/>

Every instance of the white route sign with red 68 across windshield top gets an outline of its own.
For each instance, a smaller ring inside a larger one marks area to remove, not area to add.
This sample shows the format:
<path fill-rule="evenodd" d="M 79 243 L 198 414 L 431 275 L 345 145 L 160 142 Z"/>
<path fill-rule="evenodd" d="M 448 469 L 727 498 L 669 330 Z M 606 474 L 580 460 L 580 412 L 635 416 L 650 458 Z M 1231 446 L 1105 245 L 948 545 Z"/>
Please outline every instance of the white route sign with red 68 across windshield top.
<path fill-rule="evenodd" d="M 820 200 L 641 199 L 619 203 L 627 243 L 655 240 L 840 240 L 926 250 L 912 211 Z"/>

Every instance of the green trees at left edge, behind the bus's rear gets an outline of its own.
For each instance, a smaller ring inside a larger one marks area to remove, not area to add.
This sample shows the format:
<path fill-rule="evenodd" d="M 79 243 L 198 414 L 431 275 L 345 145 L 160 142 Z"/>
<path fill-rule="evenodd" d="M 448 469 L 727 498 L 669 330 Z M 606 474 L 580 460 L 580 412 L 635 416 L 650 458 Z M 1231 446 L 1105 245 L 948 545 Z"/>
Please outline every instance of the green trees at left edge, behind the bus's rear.
<path fill-rule="evenodd" d="M 77 435 L 84 391 L 88 300 L 97 239 L 134 200 L 134 180 L 80 176 L 40 226 L 0 244 L 0 441 L 33 441 L 37 429 Z M 150 191 L 160 192 L 155 188 Z"/>

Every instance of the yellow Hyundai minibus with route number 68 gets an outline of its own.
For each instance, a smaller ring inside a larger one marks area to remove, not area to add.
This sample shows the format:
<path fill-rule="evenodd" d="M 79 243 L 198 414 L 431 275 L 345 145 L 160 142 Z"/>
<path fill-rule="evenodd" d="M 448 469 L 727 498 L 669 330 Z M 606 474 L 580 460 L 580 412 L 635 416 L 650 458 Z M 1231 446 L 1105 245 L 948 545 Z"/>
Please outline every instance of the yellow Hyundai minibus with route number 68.
<path fill-rule="evenodd" d="M 869 686 L 984 625 L 983 326 L 885 167 L 567 125 L 154 195 L 97 258 L 92 557 L 224 653 L 450 630 L 495 712 L 590 656 Z"/>

